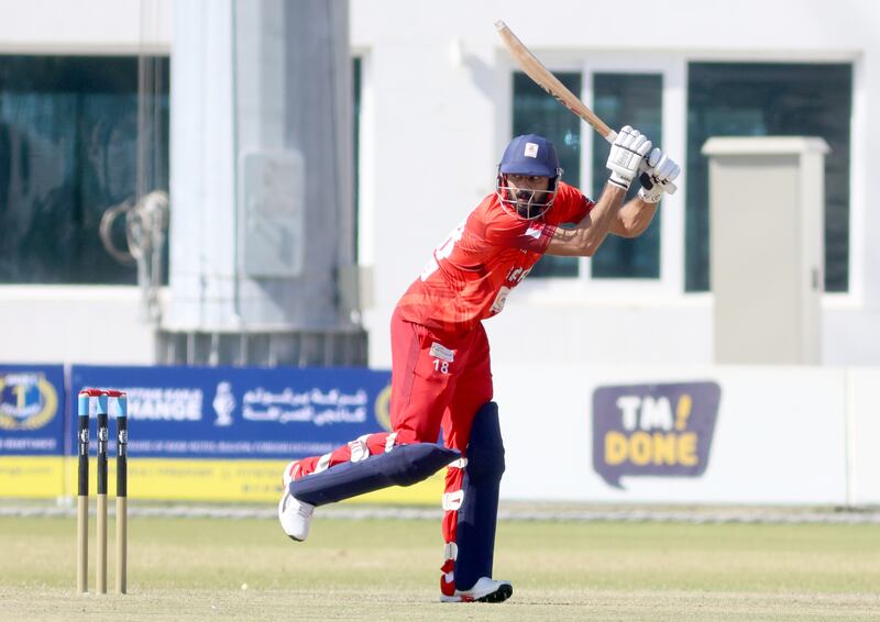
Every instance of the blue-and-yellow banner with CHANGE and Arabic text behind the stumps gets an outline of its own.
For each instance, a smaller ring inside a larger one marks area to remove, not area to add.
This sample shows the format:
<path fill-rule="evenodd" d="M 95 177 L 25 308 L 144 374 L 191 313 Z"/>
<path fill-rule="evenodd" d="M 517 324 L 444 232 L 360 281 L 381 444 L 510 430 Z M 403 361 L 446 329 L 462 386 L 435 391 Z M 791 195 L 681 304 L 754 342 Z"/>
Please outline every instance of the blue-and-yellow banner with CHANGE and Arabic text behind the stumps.
<path fill-rule="evenodd" d="M 82 388 L 127 391 L 132 498 L 277 501 L 290 460 L 389 427 L 389 381 L 354 368 L 75 365 L 68 408 Z M 441 492 L 433 478 L 360 500 L 436 503 Z"/>

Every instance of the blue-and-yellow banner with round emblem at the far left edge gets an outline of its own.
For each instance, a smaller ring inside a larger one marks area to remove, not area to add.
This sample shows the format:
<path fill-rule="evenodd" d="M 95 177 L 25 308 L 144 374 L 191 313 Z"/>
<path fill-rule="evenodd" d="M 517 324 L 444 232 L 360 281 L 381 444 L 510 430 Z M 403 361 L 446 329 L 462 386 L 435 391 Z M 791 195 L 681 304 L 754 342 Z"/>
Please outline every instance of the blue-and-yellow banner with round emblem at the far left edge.
<path fill-rule="evenodd" d="M 64 367 L 0 365 L 0 496 L 64 492 Z"/>

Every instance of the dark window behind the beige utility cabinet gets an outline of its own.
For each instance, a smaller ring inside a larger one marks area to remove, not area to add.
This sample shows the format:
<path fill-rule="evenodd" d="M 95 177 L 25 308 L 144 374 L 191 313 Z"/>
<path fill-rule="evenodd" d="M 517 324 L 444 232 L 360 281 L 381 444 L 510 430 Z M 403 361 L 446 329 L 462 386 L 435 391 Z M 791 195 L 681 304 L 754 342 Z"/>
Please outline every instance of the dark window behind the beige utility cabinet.
<path fill-rule="evenodd" d="M 805 135 L 832 148 L 825 159 L 825 289 L 847 291 L 851 66 L 691 63 L 688 101 L 685 288 L 710 288 L 708 163 L 700 153 L 706 140 Z"/>

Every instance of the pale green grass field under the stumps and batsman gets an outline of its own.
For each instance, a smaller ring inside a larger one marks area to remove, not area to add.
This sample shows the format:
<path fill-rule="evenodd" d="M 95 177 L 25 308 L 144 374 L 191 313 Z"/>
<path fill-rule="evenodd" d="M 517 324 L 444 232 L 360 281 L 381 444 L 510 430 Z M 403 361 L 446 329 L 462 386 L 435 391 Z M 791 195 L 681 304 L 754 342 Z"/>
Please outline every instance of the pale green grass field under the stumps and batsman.
<path fill-rule="evenodd" d="M 502 522 L 502 604 L 437 602 L 432 521 L 319 515 L 304 544 L 261 519 L 129 530 L 130 593 L 78 596 L 75 520 L 0 518 L 0 619 L 880 620 L 876 524 Z"/>

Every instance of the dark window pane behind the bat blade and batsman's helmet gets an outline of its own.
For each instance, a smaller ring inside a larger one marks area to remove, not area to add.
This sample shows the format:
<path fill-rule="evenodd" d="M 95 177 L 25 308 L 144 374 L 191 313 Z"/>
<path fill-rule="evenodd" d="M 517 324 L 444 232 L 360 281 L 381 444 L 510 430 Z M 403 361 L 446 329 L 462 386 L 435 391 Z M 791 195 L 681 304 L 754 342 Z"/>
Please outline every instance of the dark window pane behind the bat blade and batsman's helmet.
<path fill-rule="evenodd" d="M 557 78 L 573 93 L 581 92 L 580 73 L 557 73 Z M 514 136 L 540 134 L 557 147 L 562 179 L 581 185 L 581 120 L 547 95 L 531 78 L 514 74 Z M 576 257 L 544 255 L 529 273 L 530 278 L 576 277 Z"/>

